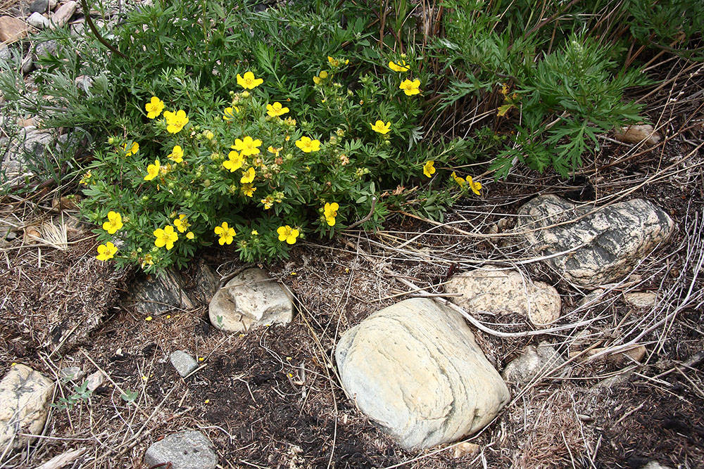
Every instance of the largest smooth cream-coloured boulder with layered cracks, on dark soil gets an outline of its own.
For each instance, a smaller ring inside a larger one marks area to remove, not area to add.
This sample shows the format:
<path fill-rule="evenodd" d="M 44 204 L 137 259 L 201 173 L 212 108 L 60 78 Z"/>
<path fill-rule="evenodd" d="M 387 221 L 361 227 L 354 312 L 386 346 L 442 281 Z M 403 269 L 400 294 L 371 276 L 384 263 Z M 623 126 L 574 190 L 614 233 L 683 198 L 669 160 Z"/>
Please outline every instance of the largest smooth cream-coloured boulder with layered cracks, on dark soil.
<path fill-rule="evenodd" d="M 405 449 L 477 432 L 510 399 L 462 316 L 425 298 L 347 330 L 335 359 L 349 397 Z"/>

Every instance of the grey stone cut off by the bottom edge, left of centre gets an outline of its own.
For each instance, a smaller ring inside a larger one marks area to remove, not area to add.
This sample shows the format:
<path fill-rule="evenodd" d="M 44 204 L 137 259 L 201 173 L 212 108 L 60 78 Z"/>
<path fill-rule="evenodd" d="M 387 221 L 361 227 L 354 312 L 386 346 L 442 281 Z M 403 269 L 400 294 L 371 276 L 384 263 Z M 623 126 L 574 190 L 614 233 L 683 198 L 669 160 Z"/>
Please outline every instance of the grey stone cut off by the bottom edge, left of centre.
<path fill-rule="evenodd" d="M 215 469 L 218 455 L 205 435 L 186 430 L 152 443 L 144 454 L 144 462 L 150 468 L 171 463 L 173 469 Z"/>

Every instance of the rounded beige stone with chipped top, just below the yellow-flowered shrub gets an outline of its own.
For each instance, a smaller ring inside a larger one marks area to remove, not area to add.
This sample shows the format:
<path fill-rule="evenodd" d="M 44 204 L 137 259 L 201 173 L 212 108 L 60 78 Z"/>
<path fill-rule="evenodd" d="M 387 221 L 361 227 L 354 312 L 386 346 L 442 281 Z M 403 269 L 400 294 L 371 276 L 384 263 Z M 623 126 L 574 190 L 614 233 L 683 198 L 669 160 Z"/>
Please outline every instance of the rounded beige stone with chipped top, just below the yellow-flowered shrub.
<path fill-rule="evenodd" d="M 289 290 L 262 269 L 246 269 L 220 288 L 208 308 L 210 323 L 239 332 L 253 326 L 291 322 L 294 304 Z"/>

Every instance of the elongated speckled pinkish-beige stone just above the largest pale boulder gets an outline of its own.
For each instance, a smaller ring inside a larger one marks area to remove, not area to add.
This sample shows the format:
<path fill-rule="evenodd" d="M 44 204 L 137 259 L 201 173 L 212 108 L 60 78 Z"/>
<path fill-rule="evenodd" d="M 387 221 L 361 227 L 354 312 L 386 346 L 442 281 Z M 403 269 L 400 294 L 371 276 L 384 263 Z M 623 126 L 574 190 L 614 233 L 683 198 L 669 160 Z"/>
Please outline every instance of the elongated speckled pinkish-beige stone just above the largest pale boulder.
<path fill-rule="evenodd" d="M 467 311 L 517 313 L 536 326 L 547 326 L 560 317 L 562 301 L 558 290 L 531 281 L 515 270 L 485 266 L 455 275 L 445 285 L 447 293 L 461 293 L 453 301 Z"/>

